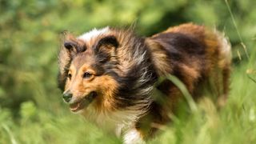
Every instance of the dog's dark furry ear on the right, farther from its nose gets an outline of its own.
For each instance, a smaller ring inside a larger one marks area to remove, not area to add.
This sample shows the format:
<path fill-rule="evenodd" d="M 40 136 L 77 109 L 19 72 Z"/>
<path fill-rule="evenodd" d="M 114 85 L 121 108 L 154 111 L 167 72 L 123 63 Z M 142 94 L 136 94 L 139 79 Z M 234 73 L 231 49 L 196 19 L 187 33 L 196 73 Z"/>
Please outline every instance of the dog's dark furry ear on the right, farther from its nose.
<path fill-rule="evenodd" d="M 118 46 L 118 40 L 114 36 L 107 36 L 100 39 L 94 48 L 98 61 L 104 63 L 109 61 L 110 58 L 115 57 Z"/>

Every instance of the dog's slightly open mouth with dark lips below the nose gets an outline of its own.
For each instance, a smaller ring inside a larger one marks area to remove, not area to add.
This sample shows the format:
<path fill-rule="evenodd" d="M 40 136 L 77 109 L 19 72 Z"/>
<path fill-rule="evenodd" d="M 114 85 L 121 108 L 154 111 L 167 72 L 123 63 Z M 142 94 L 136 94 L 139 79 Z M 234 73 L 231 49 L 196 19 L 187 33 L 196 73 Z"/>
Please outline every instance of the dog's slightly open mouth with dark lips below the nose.
<path fill-rule="evenodd" d="M 86 95 L 85 98 L 82 98 L 78 102 L 74 102 L 70 104 L 70 110 L 73 112 L 77 112 L 78 110 L 82 110 L 90 105 L 91 102 L 94 101 L 94 98 L 96 98 L 97 93 L 91 92 L 90 94 Z"/>

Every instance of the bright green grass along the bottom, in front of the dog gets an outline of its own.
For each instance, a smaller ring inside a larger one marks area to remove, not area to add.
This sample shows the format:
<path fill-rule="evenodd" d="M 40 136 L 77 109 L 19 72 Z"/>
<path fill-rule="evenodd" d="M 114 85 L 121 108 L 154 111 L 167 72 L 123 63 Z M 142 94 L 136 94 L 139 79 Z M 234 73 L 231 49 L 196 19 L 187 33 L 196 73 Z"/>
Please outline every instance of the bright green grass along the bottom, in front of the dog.
<path fill-rule="evenodd" d="M 250 65 L 251 66 L 251 65 Z M 227 105 L 215 110 L 209 98 L 199 102 L 198 110 L 180 114 L 170 126 L 160 130 L 150 143 L 255 143 L 256 83 L 248 77 L 247 62 L 233 68 Z M 251 78 L 255 73 L 250 70 Z M 39 110 L 33 102 L 24 102 L 18 120 L 7 109 L 0 110 L 0 143 L 121 143 L 66 106 L 58 113 Z"/>

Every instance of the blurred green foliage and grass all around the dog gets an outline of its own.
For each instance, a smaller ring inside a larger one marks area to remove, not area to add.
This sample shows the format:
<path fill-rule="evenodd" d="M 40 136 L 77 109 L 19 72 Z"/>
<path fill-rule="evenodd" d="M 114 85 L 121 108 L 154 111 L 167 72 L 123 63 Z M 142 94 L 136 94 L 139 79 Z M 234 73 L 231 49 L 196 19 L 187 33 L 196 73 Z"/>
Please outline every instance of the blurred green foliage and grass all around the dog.
<path fill-rule="evenodd" d="M 134 25 L 139 35 L 150 36 L 183 22 L 216 27 L 230 38 L 229 105 L 213 116 L 230 131 L 211 134 L 200 124 L 207 118 L 195 118 L 184 121 L 188 126 L 171 126 L 154 142 L 256 142 L 255 6 L 254 0 L 0 0 L 0 143 L 121 142 L 62 102 L 56 81 L 61 32 Z"/>

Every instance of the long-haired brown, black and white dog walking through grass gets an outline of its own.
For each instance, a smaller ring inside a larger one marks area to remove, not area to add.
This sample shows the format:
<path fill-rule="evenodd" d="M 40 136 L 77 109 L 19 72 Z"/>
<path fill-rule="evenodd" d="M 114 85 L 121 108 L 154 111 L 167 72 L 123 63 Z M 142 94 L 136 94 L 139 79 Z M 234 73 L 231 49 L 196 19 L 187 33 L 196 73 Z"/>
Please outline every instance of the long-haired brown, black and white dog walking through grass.
<path fill-rule="evenodd" d="M 226 103 L 230 42 L 217 30 L 186 23 L 149 38 L 111 27 L 64 35 L 58 54 L 64 101 L 124 143 L 152 138 L 178 109 L 182 91 L 159 78 L 178 78 L 194 100 L 208 91 L 217 106 Z"/>

